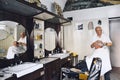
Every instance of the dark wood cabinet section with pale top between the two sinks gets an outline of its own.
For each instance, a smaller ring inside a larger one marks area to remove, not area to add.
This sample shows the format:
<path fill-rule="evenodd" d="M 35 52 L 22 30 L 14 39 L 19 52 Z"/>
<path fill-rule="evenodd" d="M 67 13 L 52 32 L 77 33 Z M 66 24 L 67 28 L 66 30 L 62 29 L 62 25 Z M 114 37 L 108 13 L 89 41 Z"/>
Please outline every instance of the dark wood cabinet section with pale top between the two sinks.
<path fill-rule="evenodd" d="M 60 77 L 60 59 L 59 58 L 43 58 L 40 63 L 44 65 L 45 80 L 59 80 Z"/>

